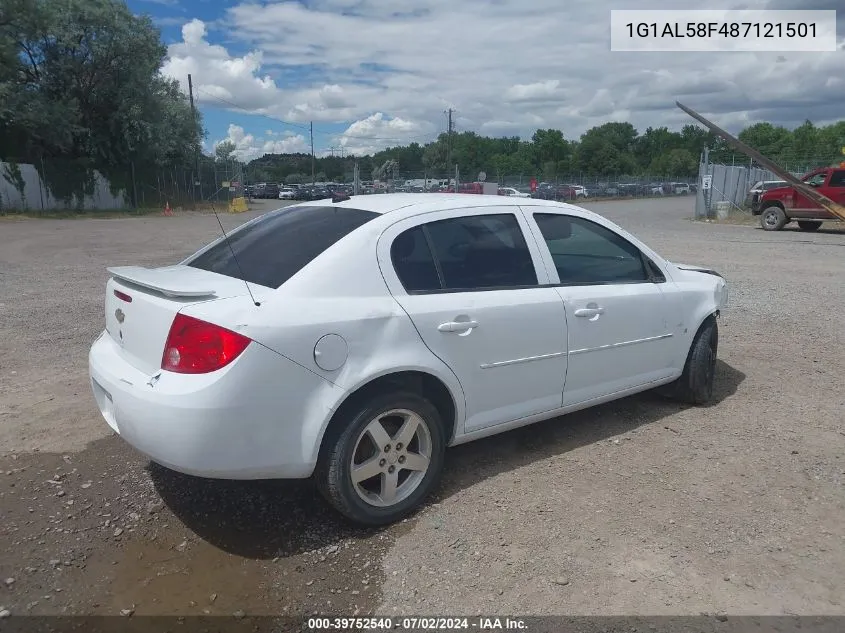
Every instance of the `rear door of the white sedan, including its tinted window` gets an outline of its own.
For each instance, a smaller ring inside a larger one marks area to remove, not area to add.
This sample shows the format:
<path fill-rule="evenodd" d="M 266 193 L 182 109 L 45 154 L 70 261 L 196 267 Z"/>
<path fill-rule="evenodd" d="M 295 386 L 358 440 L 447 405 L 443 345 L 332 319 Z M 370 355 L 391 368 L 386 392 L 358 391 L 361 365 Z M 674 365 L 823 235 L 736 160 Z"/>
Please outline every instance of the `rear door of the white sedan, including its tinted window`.
<path fill-rule="evenodd" d="M 518 209 L 484 207 L 400 221 L 379 240 L 390 291 L 461 383 L 468 432 L 561 406 L 566 314 L 526 229 Z"/>

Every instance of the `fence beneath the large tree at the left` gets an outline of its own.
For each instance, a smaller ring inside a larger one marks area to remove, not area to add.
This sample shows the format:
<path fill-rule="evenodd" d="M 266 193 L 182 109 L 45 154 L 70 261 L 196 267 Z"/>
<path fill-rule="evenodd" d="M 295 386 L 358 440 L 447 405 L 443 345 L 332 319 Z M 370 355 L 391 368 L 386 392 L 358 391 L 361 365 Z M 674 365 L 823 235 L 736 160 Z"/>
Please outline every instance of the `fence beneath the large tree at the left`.
<path fill-rule="evenodd" d="M 244 195 L 243 166 L 203 160 L 194 167 L 130 163 L 108 173 L 76 161 L 0 162 L 0 211 L 200 208 Z"/>

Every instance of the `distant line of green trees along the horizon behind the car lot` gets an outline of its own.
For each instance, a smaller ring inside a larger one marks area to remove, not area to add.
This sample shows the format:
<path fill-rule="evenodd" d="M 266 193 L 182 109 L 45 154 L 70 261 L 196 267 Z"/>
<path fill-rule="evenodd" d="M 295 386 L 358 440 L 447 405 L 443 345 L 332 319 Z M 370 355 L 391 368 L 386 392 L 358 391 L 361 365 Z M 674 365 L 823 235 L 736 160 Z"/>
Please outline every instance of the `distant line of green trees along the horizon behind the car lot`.
<path fill-rule="evenodd" d="M 806 121 L 793 130 L 756 123 L 742 130 L 739 138 L 776 162 L 801 168 L 845 159 L 845 121 L 821 127 Z M 639 133 L 630 123 L 610 122 L 591 128 L 578 140 L 569 140 L 556 129 L 537 130 L 530 140 L 443 133 L 431 143 L 389 147 L 371 156 L 317 158 L 316 180 L 349 179 L 356 161 L 366 177 L 388 160 L 398 163 L 402 177 L 452 176 L 455 165 L 463 180 L 473 180 L 483 171 L 489 180 L 500 182 L 514 176 L 547 181 L 623 175 L 691 177 L 698 173 L 705 147 L 711 162 L 748 161 L 698 125 L 685 125 L 679 132 L 649 127 Z M 247 173 L 255 181 L 310 182 L 311 156 L 266 154 L 251 161 Z"/>

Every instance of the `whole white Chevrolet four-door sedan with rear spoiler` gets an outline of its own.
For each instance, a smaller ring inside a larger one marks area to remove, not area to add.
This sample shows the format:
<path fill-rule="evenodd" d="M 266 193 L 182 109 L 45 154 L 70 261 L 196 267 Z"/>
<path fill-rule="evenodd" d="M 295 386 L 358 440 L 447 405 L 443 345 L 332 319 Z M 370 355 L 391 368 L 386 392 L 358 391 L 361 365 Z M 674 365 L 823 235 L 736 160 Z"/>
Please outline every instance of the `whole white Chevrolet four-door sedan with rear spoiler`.
<path fill-rule="evenodd" d="M 370 525 L 447 446 L 657 387 L 707 402 L 727 299 L 585 209 L 460 194 L 297 204 L 109 271 L 89 371 L 115 432 L 184 473 L 313 476 Z"/>

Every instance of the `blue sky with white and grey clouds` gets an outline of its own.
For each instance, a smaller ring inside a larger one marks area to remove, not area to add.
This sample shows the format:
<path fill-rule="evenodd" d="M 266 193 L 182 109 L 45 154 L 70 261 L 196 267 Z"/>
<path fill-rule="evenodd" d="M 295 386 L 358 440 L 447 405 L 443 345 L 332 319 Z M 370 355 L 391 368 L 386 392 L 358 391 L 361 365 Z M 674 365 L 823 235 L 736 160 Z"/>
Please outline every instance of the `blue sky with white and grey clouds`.
<path fill-rule="evenodd" d="M 726 0 L 731 8 L 740 0 Z M 835 8 L 841 0 L 742 0 Z M 168 45 L 163 74 L 194 95 L 206 148 L 365 154 L 446 128 L 578 138 L 594 125 L 678 129 L 679 99 L 737 130 L 842 117 L 845 49 L 831 53 L 613 53 L 610 9 L 697 0 L 128 0 Z M 840 20 L 845 12 L 840 12 Z M 842 22 L 840 21 L 840 25 Z M 840 29 L 840 38 L 842 29 Z M 334 148 L 334 149 L 332 149 Z"/>

